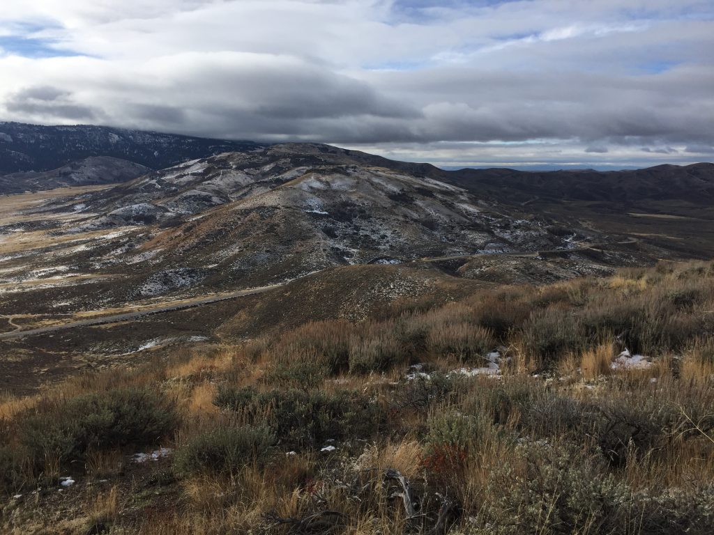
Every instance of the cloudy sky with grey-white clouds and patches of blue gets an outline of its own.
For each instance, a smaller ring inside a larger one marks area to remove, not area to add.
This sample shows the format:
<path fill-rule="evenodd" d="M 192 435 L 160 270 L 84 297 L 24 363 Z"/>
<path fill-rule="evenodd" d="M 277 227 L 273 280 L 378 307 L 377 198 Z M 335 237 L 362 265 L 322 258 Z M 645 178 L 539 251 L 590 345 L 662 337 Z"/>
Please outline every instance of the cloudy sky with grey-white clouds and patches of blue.
<path fill-rule="evenodd" d="M 3 0 L 0 121 L 443 167 L 714 161 L 714 0 Z"/>

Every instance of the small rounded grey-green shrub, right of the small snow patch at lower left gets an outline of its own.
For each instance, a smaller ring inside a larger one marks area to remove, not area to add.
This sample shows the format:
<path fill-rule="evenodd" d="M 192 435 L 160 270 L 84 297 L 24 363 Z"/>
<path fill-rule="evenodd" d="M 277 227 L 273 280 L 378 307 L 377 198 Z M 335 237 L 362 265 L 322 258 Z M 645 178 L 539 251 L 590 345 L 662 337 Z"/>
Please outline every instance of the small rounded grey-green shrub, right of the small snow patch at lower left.
<path fill-rule="evenodd" d="M 232 474 L 253 462 L 263 467 L 275 442 L 275 435 L 266 426 L 214 429 L 178 447 L 174 471 L 185 477 Z"/>

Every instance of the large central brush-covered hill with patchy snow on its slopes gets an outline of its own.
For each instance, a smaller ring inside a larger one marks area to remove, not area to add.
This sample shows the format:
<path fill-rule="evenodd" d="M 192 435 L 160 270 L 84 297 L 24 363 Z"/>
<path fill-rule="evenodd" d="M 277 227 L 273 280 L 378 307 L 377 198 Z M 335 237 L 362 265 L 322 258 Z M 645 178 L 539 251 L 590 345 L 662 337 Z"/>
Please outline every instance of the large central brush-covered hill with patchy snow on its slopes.
<path fill-rule="evenodd" d="M 7 225 L 52 243 L 38 247 L 38 234 L 14 266 L 111 276 L 119 281 L 112 298 L 126 300 L 265 285 L 337 265 L 568 250 L 605 239 L 581 228 L 554 232 L 538 215 L 516 216 L 458 186 L 365 158 L 271 146 L 52 198 L 29 210 L 41 222 L 25 214 Z"/>

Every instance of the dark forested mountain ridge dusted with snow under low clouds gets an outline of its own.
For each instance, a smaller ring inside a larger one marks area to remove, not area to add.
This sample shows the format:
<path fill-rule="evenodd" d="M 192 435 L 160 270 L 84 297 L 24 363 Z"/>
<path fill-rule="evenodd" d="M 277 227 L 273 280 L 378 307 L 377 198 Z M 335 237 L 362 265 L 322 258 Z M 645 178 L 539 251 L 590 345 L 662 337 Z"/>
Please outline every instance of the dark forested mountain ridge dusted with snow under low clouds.
<path fill-rule="evenodd" d="M 193 158 L 260 148 L 226 141 L 106 126 L 39 126 L 0 123 L 0 175 L 47 171 L 91 156 L 111 156 L 152 169 Z"/>

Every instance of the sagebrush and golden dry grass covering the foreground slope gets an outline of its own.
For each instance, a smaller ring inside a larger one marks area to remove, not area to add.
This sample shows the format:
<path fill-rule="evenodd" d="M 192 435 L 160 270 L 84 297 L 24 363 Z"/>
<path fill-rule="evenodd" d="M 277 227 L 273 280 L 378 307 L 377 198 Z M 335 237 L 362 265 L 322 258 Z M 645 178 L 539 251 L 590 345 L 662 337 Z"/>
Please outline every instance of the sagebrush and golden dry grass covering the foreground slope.
<path fill-rule="evenodd" d="M 1 525 L 710 534 L 713 387 L 710 263 L 396 302 L 6 396 Z"/>

